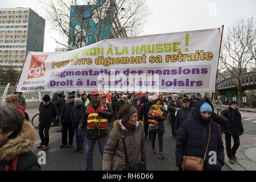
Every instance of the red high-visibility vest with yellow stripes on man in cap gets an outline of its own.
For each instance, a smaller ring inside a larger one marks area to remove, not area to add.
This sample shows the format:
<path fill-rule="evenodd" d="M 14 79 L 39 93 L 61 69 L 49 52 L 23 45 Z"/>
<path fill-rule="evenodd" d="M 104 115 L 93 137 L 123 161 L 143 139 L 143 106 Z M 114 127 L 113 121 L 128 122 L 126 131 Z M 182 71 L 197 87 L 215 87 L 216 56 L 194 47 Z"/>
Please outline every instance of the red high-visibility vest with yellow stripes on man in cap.
<path fill-rule="evenodd" d="M 95 126 L 97 126 L 97 129 L 99 128 L 98 123 L 100 121 L 100 118 L 98 116 L 98 111 L 100 111 L 100 106 L 101 106 L 101 111 L 106 111 L 106 106 L 105 106 L 104 102 L 103 101 L 101 101 L 101 102 L 102 103 L 101 103 L 101 105 L 98 106 L 97 111 L 95 111 L 93 109 L 93 106 L 92 106 L 91 103 L 89 104 L 89 106 L 87 108 L 87 114 L 88 114 L 87 128 L 88 129 L 95 129 Z M 101 121 L 100 122 L 101 122 L 100 123 L 100 130 L 108 128 L 108 118 L 101 116 Z"/>

